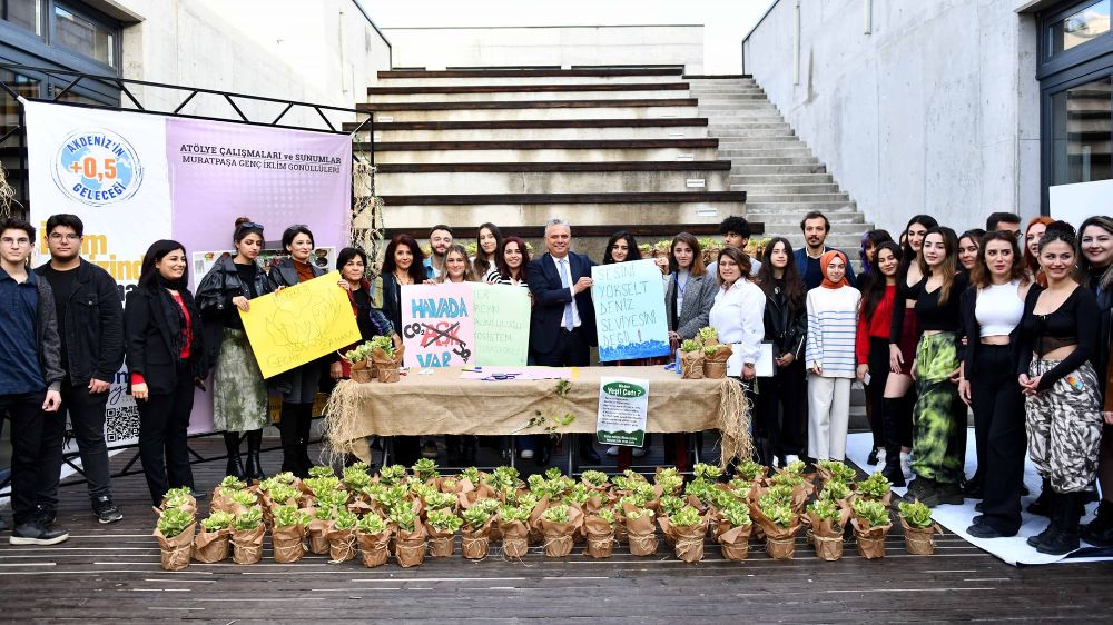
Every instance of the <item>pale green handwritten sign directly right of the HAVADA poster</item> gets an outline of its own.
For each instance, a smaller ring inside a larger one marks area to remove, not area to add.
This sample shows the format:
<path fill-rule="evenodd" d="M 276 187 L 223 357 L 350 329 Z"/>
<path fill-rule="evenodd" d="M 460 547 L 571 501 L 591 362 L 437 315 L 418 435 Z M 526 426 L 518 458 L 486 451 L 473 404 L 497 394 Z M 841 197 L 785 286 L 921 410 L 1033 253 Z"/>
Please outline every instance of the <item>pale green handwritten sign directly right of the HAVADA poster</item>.
<path fill-rule="evenodd" d="M 472 285 L 475 364 L 525 365 L 530 347 L 530 291 L 511 285 Z"/>

